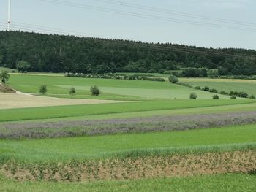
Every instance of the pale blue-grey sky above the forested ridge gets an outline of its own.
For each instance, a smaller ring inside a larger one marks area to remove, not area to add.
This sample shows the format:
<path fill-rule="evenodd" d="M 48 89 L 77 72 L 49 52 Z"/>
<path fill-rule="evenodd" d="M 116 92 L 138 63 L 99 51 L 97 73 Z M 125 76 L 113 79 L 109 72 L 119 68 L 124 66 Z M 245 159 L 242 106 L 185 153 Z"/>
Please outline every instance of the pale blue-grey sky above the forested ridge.
<path fill-rule="evenodd" d="M 0 30 L 7 8 L 0 0 Z M 12 29 L 256 50 L 255 10 L 255 0 L 12 0 L 11 18 Z"/>

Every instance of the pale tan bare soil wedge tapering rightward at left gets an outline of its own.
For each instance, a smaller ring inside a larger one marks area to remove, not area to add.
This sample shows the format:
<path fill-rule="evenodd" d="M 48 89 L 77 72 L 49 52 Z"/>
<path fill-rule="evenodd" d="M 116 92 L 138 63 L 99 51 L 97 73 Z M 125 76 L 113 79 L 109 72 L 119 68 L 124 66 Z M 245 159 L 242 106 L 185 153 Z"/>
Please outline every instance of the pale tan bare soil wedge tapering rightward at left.
<path fill-rule="evenodd" d="M 32 96 L 29 94 L 0 93 L 0 110 L 25 107 L 49 107 L 75 104 L 105 104 L 125 101 L 99 99 L 60 99 L 47 96 Z"/>

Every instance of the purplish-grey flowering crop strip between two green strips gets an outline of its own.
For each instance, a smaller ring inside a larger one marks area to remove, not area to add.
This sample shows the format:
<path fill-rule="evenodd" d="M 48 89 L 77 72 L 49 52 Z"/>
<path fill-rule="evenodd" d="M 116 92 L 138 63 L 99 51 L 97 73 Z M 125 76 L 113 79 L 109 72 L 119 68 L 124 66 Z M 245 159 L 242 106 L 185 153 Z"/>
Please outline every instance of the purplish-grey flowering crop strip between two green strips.
<path fill-rule="evenodd" d="M 2 123 L 0 139 L 41 139 L 47 137 L 75 137 L 149 131 L 184 131 L 250 123 L 256 123 L 256 111 L 110 120 Z"/>

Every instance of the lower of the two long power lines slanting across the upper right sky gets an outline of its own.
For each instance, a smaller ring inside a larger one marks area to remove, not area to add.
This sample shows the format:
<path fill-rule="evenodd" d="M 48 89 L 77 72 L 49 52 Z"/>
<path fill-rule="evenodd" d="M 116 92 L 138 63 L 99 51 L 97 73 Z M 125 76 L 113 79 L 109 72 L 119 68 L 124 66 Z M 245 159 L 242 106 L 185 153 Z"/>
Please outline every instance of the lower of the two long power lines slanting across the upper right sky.
<path fill-rule="evenodd" d="M 78 4 L 78 3 L 73 3 L 70 1 L 61 1 L 61 0 L 39 0 L 39 1 L 45 1 L 48 3 L 61 4 L 61 5 L 69 6 L 69 7 L 77 7 L 77 8 L 82 8 L 82 9 L 94 9 L 94 10 L 102 11 L 102 12 L 111 12 L 111 13 L 115 13 L 118 15 L 129 15 L 129 16 L 138 17 L 138 18 L 148 18 L 148 19 L 154 19 L 154 20 L 169 21 L 169 22 L 174 22 L 174 23 L 184 23 L 184 24 L 189 24 L 189 25 L 194 25 L 194 26 L 206 26 L 206 27 L 214 27 L 214 28 L 224 28 L 224 29 L 233 29 L 233 30 L 239 30 L 239 31 L 256 32 L 256 28 L 241 28 L 238 26 L 225 26 L 225 25 L 216 24 L 216 23 L 203 23 L 203 22 L 197 22 L 197 21 L 192 21 L 192 20 L 165 18 L 165 17 L 156 16 L 156 15 L 140 14 L 140 13 L 136 13 L 136 12 L 126 12 L 126 11 L 124 12 L 124 11 L 119 11 L 116 9 L 109 9 L 109 8 L 105 8 L 105 7 L 96 7 L 96 6 L 86 5 L 86 4 Z"/>

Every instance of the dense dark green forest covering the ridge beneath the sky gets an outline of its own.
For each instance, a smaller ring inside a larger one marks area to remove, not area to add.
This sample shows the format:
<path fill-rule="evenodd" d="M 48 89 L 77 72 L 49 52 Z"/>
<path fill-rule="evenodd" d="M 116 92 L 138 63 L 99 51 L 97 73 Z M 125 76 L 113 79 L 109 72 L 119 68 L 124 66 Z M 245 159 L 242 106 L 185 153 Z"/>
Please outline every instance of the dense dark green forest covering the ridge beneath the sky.
<path fill-rule="evenodd" d="M 29 72 L 167 72 L 218 69 L 256 74 L 256 51 L 0 31 L 0 66 Z"/>

